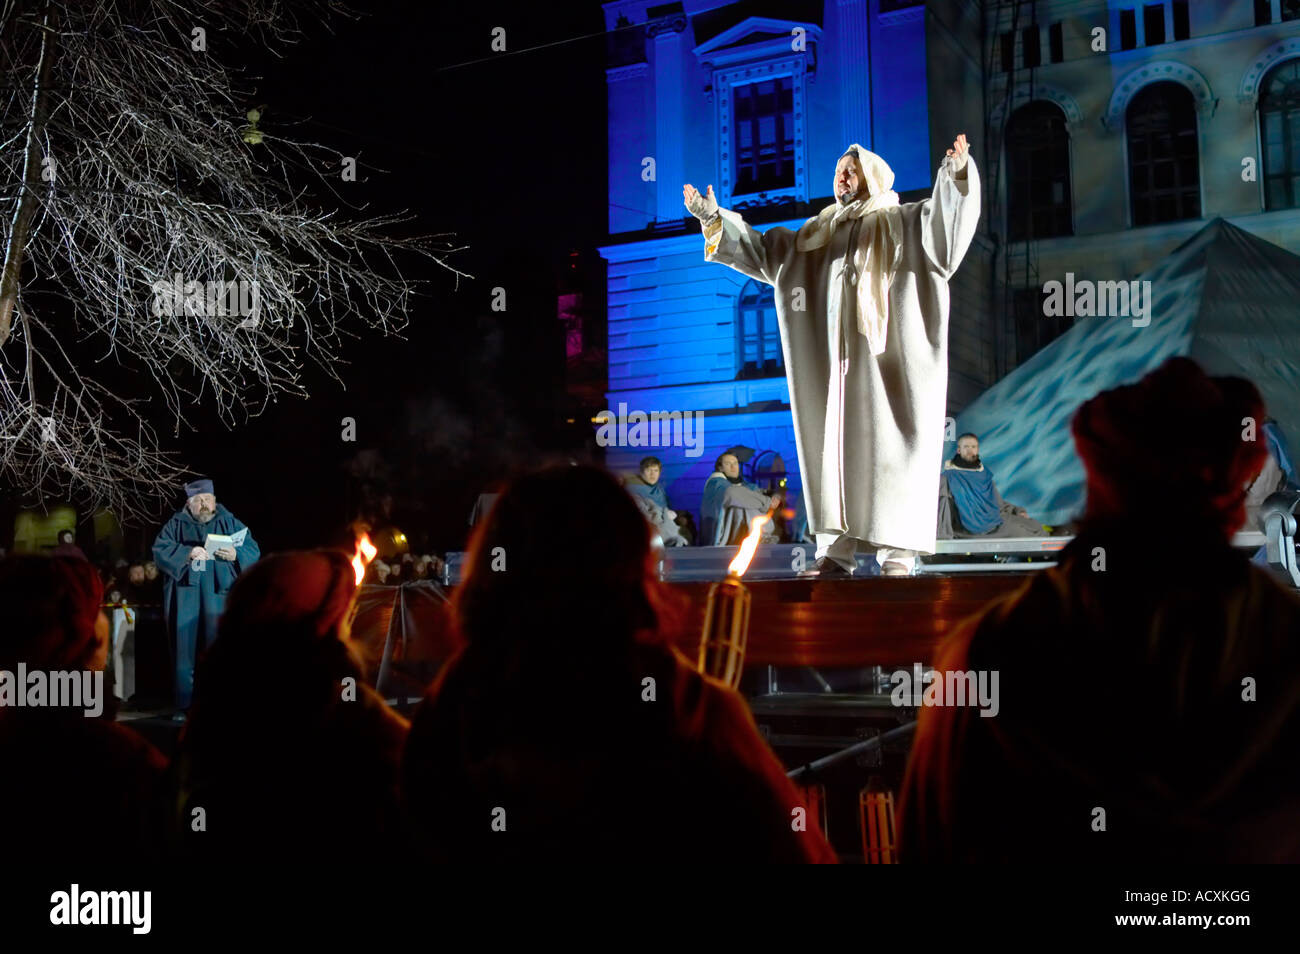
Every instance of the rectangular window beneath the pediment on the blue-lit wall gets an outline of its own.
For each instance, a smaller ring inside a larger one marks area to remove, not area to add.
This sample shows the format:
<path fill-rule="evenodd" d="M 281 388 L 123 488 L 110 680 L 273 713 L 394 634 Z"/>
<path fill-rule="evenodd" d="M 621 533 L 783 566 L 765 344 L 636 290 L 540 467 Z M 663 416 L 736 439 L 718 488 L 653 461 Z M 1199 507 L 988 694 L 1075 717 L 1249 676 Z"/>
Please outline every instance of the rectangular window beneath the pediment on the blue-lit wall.
<path fill-rule="evenodd" d="M 794 185 L 794 81 L 764 79 L 734 87 L 734 195 Z"/>

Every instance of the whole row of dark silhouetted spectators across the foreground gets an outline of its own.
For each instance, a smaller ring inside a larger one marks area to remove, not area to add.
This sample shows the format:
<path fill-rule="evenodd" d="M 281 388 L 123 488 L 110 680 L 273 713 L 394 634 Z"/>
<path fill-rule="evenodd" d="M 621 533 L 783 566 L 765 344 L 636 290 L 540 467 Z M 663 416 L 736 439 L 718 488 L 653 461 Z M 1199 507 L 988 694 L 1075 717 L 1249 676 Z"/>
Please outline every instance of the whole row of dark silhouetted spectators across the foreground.
<path fill-rule="evenodd" d="M 1186 359 L 1079 409 L 1079 534 L 941 643 L 936 668 L 998 671 L 1002 699 L 922 711 L 902 860 L 1300 860 L 1300 599 L 1228 542 L 1266 454 L 1242 421 L 1264 416 L 1249 382 Z M 1140 529 L 1156 507 L 1178 515 L 1165 558 Z M 350 554 L 266 556 L 170 760 L 112 706 L 0 706 L 10 840 L 122 860 L 836 860 L 792 823 L 802 795 L 745 699 L 673 647 L 685 603 L 654 560 L 608 473 L 514 481 L 408 723 L 363 677 Z M 84 560 L 0 560 L 0 671 L 103 669 L 104 597 Z"/>

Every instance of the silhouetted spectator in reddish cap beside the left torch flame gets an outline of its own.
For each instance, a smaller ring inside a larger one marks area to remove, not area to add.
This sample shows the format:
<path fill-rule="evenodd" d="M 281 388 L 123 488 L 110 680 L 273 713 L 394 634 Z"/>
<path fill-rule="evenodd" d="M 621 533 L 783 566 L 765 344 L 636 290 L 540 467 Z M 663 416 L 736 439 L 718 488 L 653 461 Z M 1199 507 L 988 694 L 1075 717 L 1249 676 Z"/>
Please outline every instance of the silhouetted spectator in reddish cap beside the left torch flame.
<path fill-rule="evenodd" d="M 355 580 L 351 554 L 316 550 L 263 558 L 231 587 L 173 767 L 173 824 L 195 858 L 390 850 L 406 723 L 364 684 Z M 216 838 L 191 834 L 190 806 L 220 819 Z"/>

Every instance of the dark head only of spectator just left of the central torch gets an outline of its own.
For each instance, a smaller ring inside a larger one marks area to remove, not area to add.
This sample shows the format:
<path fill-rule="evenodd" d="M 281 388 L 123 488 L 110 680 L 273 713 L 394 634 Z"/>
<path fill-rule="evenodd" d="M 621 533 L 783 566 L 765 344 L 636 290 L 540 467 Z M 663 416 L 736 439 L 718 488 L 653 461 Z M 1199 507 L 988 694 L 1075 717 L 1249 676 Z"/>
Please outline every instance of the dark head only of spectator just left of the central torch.
<path fill-rule="evenodd" d="M 502 493 L 474 529 L 452 603 L 471 642 L 577 654 L 676 624 L 664 616 L 650 526 L 612 476 L 586 465 L 546 468 Z"/>

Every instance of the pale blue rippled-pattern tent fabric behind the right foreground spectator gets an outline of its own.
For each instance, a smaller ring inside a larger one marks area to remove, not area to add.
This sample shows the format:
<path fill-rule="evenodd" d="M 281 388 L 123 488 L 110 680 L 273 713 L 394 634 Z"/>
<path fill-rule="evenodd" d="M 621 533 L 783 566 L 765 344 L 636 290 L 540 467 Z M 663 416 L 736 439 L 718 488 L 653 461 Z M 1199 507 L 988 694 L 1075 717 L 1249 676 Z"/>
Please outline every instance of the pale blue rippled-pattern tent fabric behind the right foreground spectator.
<path fill-rule="evenodd" d="M 1150 281 L 1149 325 L 1078 317 L 957 415 L 956 433 L 979 435 L 980 456 L 997 472 L 1002 495 L 1045 524 L 1083 512 L 1083 463 L 1070 438 L 1074 412 L 1174 355 L 1191 357 L 1208 374 L 1254 382 L 1287 443 L 1300 447 L 1300 256 L 1216 218 L 1138 278 Z M 954 450 L 949 442 L 945 456 Z"/>

